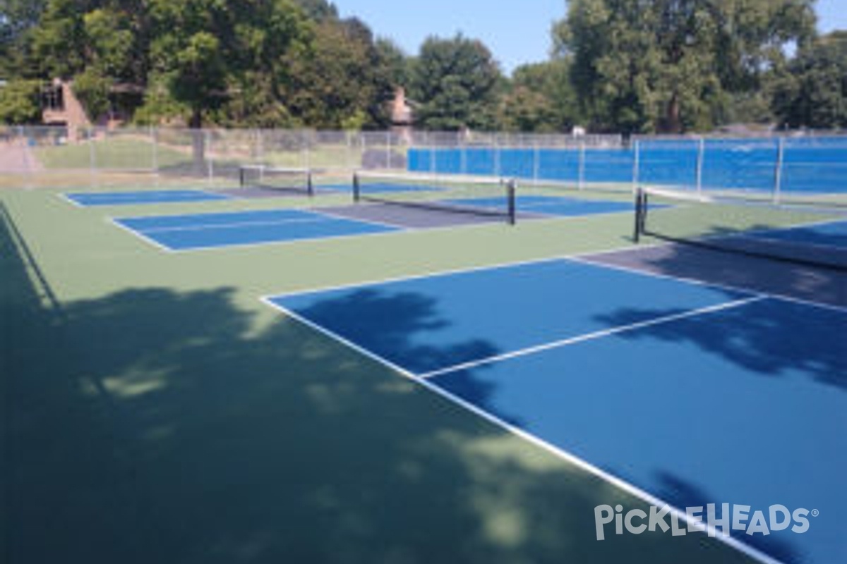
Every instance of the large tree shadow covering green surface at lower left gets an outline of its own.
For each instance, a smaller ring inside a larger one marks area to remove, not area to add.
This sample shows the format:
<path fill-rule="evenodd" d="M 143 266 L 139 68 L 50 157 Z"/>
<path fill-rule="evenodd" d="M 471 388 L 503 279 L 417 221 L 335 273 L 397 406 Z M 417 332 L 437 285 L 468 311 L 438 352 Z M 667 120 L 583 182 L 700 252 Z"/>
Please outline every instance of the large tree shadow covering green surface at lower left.
<path fill-rule="evenodd" d="M 7 561 L 745 561 L 596 541 L 643 504 L 231 288 L 63 304 L 0 251 Z"/>

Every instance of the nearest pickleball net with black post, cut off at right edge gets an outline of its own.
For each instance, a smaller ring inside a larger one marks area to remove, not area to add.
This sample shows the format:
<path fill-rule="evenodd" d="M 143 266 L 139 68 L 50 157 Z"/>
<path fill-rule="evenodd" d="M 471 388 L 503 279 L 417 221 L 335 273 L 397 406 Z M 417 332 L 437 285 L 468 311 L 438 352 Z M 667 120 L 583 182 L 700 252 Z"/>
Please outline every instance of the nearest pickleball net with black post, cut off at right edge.
<path fill-rule="evenodd" d="M 847 210 L 639 189 L 635 240 L 645 238 L 847 270 Z"/>

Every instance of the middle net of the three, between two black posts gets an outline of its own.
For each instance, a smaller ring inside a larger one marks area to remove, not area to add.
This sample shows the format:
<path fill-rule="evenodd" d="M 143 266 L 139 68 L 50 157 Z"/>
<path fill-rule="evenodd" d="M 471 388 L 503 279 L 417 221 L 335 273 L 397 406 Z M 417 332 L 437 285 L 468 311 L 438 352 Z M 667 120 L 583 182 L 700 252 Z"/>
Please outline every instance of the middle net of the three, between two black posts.
<path fill-rule="evenodd" d="M 356 172 L 353 200 L 516 221 L 514 180 L 413 173 Z"/>

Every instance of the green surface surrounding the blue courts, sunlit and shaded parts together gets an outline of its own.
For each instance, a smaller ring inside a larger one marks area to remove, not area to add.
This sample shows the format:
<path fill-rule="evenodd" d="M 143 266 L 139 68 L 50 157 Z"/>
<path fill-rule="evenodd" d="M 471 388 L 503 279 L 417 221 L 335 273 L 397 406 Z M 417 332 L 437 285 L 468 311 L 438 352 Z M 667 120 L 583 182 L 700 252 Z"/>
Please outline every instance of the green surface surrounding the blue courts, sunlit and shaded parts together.
<path fill-rule="evenodd" d="M 649 504 L 260 299 L 619 249 L 630 214 L 174 255 L 109 218 L 309 202 L 62 191 L 0 191 L 8 561 L 750 561 L 705 534 L 598 541 L 596 506 Z"/>

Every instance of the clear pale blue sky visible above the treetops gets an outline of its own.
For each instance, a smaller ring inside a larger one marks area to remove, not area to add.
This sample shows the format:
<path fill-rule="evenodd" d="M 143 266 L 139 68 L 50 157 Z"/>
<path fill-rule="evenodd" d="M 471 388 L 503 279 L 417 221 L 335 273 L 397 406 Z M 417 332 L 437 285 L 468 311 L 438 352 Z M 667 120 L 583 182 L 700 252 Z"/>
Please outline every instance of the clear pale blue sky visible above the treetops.
<path fill-rule="evenodd" d="M 480 39 L 506 73 L 523 63 L 544 61 L 551 25 L 567 13 L 565 0 L 332 0 L 344 17 L 357 16 L 374 33 L 393 39 L 414 55 L 428 36 L 458 31 Z M 847 1 L 818 0 L 822 31 L 847 30 Z"/>

